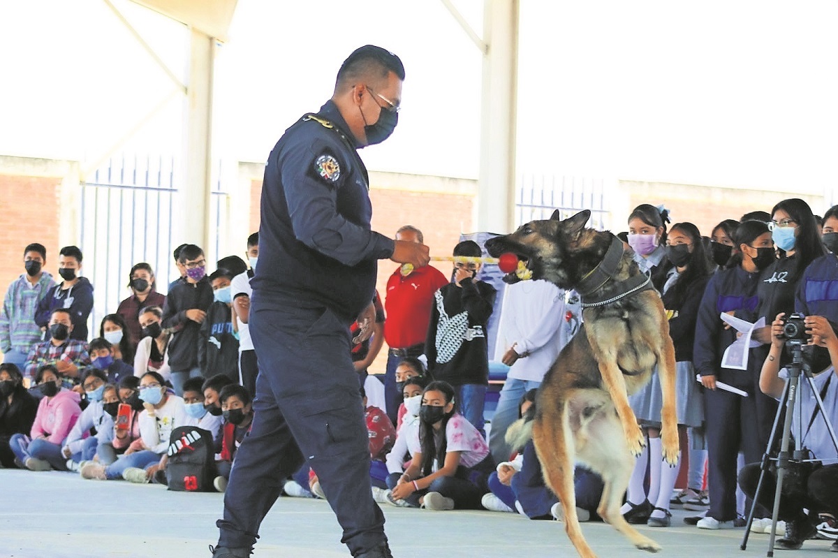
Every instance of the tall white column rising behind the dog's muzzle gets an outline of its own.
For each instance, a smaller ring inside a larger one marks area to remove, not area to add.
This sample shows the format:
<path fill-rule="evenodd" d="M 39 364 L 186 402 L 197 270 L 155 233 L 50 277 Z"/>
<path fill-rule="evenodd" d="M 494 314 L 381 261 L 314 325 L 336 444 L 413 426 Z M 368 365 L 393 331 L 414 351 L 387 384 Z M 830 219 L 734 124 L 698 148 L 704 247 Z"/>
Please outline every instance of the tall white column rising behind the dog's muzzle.
<path fill-rule="evenodd" d="M 518 0 L 485 0 L 483 104 L 480 114 L 478 230 L 515 227 L 515 120 L 518 90 Z"/>

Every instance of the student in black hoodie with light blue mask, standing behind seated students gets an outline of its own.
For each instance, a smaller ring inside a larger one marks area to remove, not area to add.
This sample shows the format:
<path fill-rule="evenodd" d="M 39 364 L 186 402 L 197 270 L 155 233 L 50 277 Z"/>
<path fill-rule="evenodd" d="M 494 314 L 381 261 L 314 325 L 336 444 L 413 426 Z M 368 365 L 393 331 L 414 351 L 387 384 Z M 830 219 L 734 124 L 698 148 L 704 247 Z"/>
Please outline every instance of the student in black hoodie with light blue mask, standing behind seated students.
<path fill-rule="evenodd" d="M 204 378 L 211 374 L 225 374 L 232 381 L 239 381 L 239 339 L 233 330 L 232 295 L 230 281 L 233 276 L 224 268 L 209 276 L 213 302 L 207 308 L 198 338 L 198 365 Z"/>

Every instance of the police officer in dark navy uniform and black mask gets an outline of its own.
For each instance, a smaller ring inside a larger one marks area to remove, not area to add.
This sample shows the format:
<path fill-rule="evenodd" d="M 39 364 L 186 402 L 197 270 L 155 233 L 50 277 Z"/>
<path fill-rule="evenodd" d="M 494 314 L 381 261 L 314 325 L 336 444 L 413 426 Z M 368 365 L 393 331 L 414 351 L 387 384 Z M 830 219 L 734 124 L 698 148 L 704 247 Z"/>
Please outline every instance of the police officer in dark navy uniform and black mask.
<path fill-rule="evenodd" d="M 251 433 L 235 455 L 215 558 L 251 553 L 282 481 L 304 461 L 318 474 L 354 556 L 391 556 L 370 489 L 364 412 L 349 353 L 375 323 L 377 260 L 425 266 L 427 246 L 370 230 L 366 168 L 357 149 L 383 142 L 398 121 L 401 60 L 355 50 L 334 96 L 303 116 L 268 158 L 250 330 L 261 373 Z"/>

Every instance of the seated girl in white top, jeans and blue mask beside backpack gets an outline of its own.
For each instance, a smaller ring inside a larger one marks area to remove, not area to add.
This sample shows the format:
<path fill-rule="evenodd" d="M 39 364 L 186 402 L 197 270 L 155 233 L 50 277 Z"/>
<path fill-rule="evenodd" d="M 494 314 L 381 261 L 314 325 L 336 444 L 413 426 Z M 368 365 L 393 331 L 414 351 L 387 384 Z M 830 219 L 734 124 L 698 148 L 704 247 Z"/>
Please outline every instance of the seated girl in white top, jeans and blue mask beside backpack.
<path fill-rule="evenodd" d="M 125 478 L 132 483 L 147 483 L 147 469 L 160 462 L 168 450 L 169 435 L 186 424 L 184 400 L 170 393 L 163 376 L 147 372 L 140 379 L 140 399 L 145 409 L 140 413 L 140 439 L 143 449 L 126 452 L 116 462 L 104 467 L 87 463 L 81 468 L 82 478 L 100 480 Z"/>

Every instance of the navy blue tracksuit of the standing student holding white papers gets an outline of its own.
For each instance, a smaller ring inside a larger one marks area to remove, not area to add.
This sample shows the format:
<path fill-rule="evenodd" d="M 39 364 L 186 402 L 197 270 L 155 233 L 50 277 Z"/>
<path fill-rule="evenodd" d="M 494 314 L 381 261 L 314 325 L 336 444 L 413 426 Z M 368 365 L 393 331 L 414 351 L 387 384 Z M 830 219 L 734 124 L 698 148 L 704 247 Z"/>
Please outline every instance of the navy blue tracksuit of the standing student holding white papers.
<path fill-rule="evenodd" d="M 754 420 L 759 377 L 747 370 L 722 368 L 722 354 L 736 340 L 736 330 L 725 329 L 719 314 L 733 311 L 737 318 L 751 318 L 759 307 L 758 273 L 742 266 L 716 272 L 707 282 L 698 310 L 693 364 L 702 376 L 716 376 L 747 392 L 747 397 L 725 390 L 705 390 L 707 466 L 709 468 L 710 509 L 707 515 L 719 521 L 736 519 L 737 453 L 746 462 L 758 461 L 765 449 Z"/>

